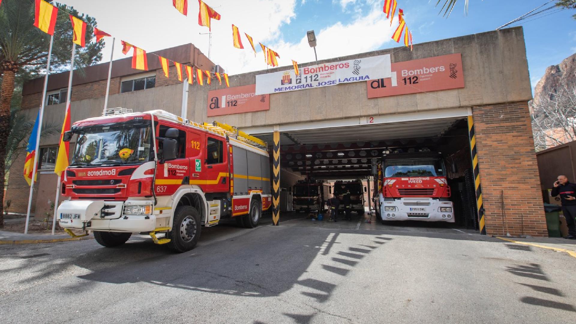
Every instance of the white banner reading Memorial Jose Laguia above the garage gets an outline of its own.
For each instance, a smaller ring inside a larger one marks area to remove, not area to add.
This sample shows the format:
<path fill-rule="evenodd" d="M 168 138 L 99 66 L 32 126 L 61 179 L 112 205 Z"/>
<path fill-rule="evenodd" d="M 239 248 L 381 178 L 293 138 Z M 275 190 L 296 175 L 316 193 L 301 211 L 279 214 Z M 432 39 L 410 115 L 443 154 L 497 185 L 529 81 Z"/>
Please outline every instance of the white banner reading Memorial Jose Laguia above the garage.
<path fill-rule="evenodd" d="M 350 59 L 256 76 L 256 95 L 320 88 L 340 83 L 389 78 L 390 54 Z"/>

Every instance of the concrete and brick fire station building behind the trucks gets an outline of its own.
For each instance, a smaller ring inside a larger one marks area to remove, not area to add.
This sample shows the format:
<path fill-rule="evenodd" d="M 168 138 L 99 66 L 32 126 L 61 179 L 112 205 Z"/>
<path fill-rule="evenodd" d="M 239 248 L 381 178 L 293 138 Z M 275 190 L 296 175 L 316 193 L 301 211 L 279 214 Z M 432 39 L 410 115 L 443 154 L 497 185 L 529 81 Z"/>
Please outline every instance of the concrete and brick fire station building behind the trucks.
<path fill-rule="evenodd" d="M 192 44 L 156 54 L 203 70 L 223 71 Z M 387 54 L 392 78 L 366 80 L 370 75 L 366 62 Z M 293 80 L 286 73 L 293 67 L 283 66 L 229 76 L 226 88 L 216 78 L 210 85 L 183 86 L 175 67 L 170 66 L 166 78 L 154 56 L 145 72 L 132 70 L 131 58 L 125 58 L 113 62 L 108 107 L 184 112 L 195 122 L 216 120 L 261 138 L 271 148 L 279 145 L 283 189 L 305 176 L 369 179 L 373 160 L 392 152 L 439 152 L 452 190 L 456 225 L 488 235 L 547 236 L 521 27 L 421 43 L 413 51 L 398 47 L 329 58 L 318 65 L 338 69 L 339 63 L 349 60 L 357 77 L 337 85 L 307 80 L 313 78 L 308 73 Z M 300 68 L 314 65 L 304 63 Z M 72 122 L 102 115 L 107 73 L 108 63 L 103 63 L 74 75 Z M 68 76 L 65 72 L 48 78 L 45 125 L 62 124 Z M 317 86 L 303 86 L 310 82 Z M 22 108 L 29 119 L 37 114 L 42 85 L 43 78 L 24 85 Z M 271 90 L 263 93 L 263 87 Z M 40 141 L 36 218 L 51 213 L 58 140 L 59 135 L 52 135 Z M 25 153 L 20 154 L 10 170 L 5 198 L 11 201 L 9 212 L 26 211 L 24 158 Z"/>

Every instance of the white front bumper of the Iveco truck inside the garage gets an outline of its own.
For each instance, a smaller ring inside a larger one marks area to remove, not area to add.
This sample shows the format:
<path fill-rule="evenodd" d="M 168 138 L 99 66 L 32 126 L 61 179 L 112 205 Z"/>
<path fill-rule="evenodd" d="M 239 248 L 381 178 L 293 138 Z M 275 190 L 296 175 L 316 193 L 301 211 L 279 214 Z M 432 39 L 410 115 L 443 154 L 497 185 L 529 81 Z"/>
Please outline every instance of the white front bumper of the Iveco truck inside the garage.
<path fill-rule="evenodd" d="M 381 199 L 381 217 L 384 221 L 419 220 L 454 223 L 454 206 L 451 201 L 434 198 Z"/>

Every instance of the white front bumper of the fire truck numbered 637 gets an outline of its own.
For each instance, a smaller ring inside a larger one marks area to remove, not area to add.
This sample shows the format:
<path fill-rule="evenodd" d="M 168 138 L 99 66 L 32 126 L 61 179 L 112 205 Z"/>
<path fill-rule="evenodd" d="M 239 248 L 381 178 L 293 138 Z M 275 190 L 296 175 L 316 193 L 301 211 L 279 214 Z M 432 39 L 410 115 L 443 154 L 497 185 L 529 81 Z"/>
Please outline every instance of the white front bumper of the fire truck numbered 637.
<path fill-rule="evenodd" d="M 67 200 L 58 206 L 60 227 L 90 231 L 149 232 L 156 227 L 147 201 Z"/>

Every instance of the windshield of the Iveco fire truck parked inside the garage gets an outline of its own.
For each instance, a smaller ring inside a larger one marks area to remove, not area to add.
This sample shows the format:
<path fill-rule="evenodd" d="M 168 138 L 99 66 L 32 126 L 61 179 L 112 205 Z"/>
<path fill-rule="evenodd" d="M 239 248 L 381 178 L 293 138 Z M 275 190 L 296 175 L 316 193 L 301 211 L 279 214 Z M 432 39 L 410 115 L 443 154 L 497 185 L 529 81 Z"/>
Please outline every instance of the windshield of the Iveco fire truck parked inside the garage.
<path fill-rule="evenodd" d="M 439 159 L 388 160 L 384 162 L 385 177 L 445 176 L 444 163 Z"/>

